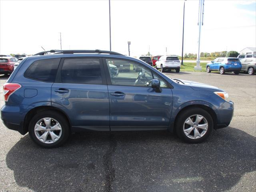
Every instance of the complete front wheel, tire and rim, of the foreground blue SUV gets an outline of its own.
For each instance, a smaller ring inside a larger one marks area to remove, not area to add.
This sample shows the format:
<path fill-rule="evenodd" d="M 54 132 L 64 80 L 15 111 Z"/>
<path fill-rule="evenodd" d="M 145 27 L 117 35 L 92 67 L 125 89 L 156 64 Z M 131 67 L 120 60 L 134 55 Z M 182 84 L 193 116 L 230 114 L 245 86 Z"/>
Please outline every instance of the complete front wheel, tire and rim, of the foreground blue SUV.
<path fill-rule="evenodd" d="M 190 108 L 176 118 L 176 133 L 188 143 L 200 143 L 206 140 L 213 129 L 210 114 L 201 108 Z"/>

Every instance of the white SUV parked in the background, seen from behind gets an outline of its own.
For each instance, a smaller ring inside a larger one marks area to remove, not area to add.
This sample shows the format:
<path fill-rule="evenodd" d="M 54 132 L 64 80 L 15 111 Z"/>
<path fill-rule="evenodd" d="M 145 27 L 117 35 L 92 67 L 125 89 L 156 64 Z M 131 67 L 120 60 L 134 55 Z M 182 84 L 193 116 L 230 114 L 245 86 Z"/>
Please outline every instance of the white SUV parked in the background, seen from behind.
<path fill-rule="evenodd" d="M 180 60 L 176 55 L 164 55 L 156 62 L 156 69 L 161 69 L 161 72 L 165 70 L 176 70 L 176 73 L 180 72 Z"/>

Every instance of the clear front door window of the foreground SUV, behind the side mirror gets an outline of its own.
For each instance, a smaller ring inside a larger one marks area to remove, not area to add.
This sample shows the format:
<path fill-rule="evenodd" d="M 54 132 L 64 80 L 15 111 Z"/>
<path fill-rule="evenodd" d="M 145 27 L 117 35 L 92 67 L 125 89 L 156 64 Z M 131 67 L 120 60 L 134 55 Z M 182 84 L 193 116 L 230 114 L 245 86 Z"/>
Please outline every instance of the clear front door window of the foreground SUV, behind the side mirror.
<path fill-rule="evenodd" d="M 138 63 L 116 59 L 106 59 L 106 63 L 112 85 L 147 87 L 151 86 L 150 82 L 153 78 L 157 78 L 160 80 L 161 87 L 167 87 L 166 82 L 160 76 Z M 123 70 L 124 66 L 126 70 Z M 117 68 L 118 73 L 114 73 L 113 68 Z"/>

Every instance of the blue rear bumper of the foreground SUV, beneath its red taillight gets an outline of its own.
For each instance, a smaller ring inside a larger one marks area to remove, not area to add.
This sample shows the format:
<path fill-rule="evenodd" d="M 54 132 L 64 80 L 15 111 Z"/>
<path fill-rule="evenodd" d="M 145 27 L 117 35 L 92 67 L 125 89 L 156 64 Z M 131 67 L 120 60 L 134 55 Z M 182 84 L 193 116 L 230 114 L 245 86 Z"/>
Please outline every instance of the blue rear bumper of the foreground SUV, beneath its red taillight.
<path fill-rule="evenodd" d="M 1 108 L 1 119 L 8 129 L 24 135 L 27 132 L 27 128 L 24 127 L 24 119 L 32 108 L 28 105 L 4 105 Z"/>

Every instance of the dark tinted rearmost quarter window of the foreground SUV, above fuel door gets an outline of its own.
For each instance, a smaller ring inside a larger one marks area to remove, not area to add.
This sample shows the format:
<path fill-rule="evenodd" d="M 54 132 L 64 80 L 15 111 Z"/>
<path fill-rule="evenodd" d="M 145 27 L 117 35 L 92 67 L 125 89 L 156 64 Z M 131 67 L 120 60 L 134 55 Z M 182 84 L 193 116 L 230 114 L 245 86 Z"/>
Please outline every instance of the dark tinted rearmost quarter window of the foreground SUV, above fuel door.
<path fill-rule="evenodd" d="M 33 62 L 26 70 L 24 76 L 44 82 L 54 82 L 60 58 L 44 59 Z"/>

